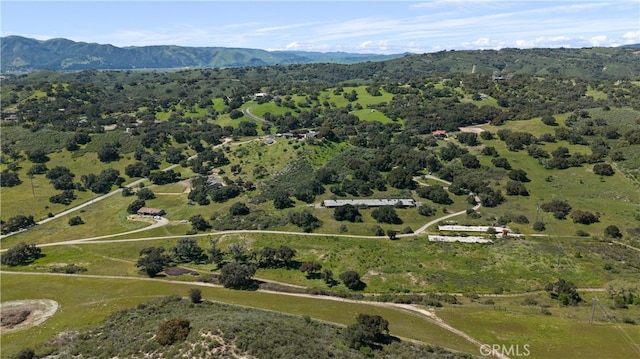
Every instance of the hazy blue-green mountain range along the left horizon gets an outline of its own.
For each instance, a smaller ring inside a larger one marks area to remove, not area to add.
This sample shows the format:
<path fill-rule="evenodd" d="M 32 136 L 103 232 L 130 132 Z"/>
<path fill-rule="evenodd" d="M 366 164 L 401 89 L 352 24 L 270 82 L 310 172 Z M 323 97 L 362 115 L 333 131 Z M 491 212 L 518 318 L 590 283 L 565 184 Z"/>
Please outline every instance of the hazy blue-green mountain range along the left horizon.
<path fill-rule="evenodd" d="M 344 52 L 265 51 L 227 47 L 141 46 L 116 47 L 68 39 L 46 41 L 7 36 L 0 38 L 1 72 L 41 69 L 173 69 L 243 67 L 305 63 L 350 64 L 403 56 Z"/>

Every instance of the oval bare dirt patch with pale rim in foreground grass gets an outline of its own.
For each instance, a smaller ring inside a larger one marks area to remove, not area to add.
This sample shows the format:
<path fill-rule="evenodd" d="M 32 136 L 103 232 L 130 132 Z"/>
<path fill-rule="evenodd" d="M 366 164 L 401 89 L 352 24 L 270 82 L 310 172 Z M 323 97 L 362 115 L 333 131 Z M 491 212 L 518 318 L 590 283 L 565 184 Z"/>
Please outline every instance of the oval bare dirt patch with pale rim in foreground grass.
<path fill-rule="evenodd" d="M 42 324 L 58 310 L 58 302 L 49 299 L 16 300 L 0 303 L 2 334 Z"/>

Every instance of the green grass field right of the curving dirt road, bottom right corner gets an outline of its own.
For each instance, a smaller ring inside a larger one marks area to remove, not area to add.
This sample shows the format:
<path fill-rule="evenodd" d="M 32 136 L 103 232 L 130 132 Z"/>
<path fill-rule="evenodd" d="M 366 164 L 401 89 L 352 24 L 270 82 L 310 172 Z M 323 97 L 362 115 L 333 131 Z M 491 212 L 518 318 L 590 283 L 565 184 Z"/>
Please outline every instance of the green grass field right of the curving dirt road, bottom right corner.
<path fill-rule="evenodd" d="M 521 353 L 527 345 L 532 358 L 632 358 L 640 353 L 637 325 L 602 320 L 600 308 L 595 323 L 590 325 L 590 301 L 573 308 L 548 303 L 551 315 L 543 315 L 539 306 L 522 306 L 503 298 L 492 300 L 495 305 L 444 307 L 436 314 L 484 343 L 518 345 Z M 625 315 L 610 309 L 607 312 Z"/>

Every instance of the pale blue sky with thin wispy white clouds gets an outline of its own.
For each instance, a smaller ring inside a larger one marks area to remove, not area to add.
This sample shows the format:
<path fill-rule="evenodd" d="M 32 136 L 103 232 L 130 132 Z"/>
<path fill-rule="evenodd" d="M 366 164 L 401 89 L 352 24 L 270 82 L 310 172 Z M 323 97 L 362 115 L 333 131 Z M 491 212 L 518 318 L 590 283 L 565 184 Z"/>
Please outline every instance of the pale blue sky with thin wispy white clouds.
<path fill-rule="evenodd" d="M 2 36 L 359 53 L 640 43 L 638 0 L 6 1 Z"/>

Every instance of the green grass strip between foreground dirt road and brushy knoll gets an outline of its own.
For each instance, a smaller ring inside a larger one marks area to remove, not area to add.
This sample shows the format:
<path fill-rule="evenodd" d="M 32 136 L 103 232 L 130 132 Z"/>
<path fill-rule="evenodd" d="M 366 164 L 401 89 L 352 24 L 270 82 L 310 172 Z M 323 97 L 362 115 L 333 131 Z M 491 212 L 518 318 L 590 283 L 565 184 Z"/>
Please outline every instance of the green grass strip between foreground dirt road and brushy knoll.
<path fill-rule="evenodd" d="M 83 330 L 99 324 L 117 310 L 176 294 L 186 296 L 193 283 L 168 283 L 161 280 L 80 278 L 73 276 L 29 276 L 2 273 L 3 301 L 43 298 L 60 304 L 58 312 L 43 324 L 29 330 L 3 334 L 3 356 L 22 348 L 35 347 L 59 332 Z M 30 285 L 23 285 L 25 279 Z M 135 285 L 132 285 L 135 284 Z M 391 334 L 420 340 L 465 352 L 475 347 L 464 339 L 437 327 L 420 316 L 400 310 L 367 304 L 299 298 L 263 292 L 233 291 L 199 287 L 203 299 L 250 306 L 342 325 L 351 324 L 358 313 L 381 315 L 389 321 Z M 80 294 L 81 293 L 81 294 Z"/>

